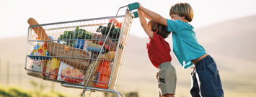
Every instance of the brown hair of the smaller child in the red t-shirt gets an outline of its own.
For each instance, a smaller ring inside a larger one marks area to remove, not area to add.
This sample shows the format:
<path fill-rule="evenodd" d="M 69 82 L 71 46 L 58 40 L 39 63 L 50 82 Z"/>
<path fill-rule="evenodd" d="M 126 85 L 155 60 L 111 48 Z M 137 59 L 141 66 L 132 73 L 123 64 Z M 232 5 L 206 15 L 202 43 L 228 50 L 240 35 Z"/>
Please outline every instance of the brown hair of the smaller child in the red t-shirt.
<path fill-rule="evenodd" d="M 153 32 L 156 32 L 156 34 L 159 34 L 164 38 L 167 38 L 168 35 L 171 33 L 171 32 L 167 32 L 166 26 L 159 24 L 157 22 L 154 22 L 153 20 L 150 20 L 148 24 L 151 27 L 151 30 Z"/>

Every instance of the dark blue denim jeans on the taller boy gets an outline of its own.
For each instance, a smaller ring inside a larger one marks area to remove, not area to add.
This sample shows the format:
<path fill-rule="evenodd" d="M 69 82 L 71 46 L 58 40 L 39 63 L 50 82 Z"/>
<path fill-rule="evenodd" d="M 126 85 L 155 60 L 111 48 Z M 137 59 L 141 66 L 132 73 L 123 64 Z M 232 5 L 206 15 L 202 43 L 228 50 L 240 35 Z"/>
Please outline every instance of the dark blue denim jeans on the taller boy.
<path fill-rule="evenodd" d="M 191 78 L 191 96 L 224 97 L 219 70 L 210 55 L 195 63 Z"/>

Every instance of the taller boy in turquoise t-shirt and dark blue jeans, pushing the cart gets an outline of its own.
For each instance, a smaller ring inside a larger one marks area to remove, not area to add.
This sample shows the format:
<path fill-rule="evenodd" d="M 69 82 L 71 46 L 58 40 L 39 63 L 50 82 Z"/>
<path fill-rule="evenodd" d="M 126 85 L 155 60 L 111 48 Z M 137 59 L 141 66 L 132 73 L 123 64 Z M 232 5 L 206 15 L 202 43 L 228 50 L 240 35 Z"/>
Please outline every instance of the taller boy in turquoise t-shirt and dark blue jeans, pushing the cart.
<path fill-rule="evenodd" d="M 141 4 L 138 4 L 138 9 L 144 11 L 144 14 L 155 22 L 167 26 L 167 31 L 172 32 L 173 51 L 183 68 L 195 65 L 191 73 L 191 96 L 223 97 L 224 91 L 216 63 L 199 45 L 193 31 L 194 27 L 188 24 L 193 19 L 193 9 L 190 4 L 177 3 L 173 5 L 169 11 L 172 19 L 165 19 L 144 8 Z"/>

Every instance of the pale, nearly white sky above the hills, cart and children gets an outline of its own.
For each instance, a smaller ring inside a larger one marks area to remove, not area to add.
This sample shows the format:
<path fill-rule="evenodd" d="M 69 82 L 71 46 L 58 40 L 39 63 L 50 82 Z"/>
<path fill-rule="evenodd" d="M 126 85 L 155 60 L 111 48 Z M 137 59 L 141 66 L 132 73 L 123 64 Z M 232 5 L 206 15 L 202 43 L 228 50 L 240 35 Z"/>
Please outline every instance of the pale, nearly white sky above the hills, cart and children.
<path fill-rule="evenodd" d="M 169 18 L 169 8 L 177 2 L 188 2 L 193 7 L 194 19 L 190 24 L 199 29 L 229 19 L 256 14 L 255 0 L 1 0 L 1 38 L 26 36 L 27 19 L 33 17 L 40 24 L 76 19 L 114 16 L 120 6 L 135 1 Z M 146 37 L 138 19 L 133 19 L 130 34 Z"/>

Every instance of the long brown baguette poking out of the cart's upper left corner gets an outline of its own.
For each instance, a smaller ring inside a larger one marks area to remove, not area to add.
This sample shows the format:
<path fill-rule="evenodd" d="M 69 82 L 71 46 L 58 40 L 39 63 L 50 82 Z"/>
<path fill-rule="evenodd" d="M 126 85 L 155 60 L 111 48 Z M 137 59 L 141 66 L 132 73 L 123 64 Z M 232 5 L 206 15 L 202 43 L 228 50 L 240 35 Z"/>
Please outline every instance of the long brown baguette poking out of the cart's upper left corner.
<path fill-rule="evenodd" d="M 39 25 L 35 19 L 28 19 L 30 25 Z M 48 48 L 49 55 L 56 57 L 58 60 L 69 62 L 69 65 L 74 68 L 84 68 L 89 66 L 89 52 L 85 50 L 79 50 L 75 47 L 69 45 L 63 45 L 51 40 L 48 34 L 46 34 L 45 29 L 41 26 L 31 27 L 34 33 L 40 37 L 42 42 L 45 42 Z M 69 58 L 70 57 L 70 58 Z M 82 57 L 82 58 L 72 58 L 72 57 Z"/>

